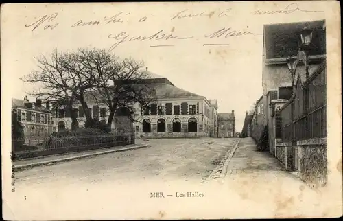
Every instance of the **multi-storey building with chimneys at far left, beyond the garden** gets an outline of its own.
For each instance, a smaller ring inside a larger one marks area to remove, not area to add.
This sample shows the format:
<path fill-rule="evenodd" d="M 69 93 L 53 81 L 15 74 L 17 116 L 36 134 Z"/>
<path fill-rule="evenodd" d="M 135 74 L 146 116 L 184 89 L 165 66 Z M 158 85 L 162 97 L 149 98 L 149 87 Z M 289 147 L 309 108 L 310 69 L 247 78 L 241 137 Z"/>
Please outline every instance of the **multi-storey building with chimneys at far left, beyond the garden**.
<path fill-rule="evenodd" d="M 25 137 L 40 137 L 54 132 L 53 115 L 49 108 L 49 102 L 43 106 L 40 99 L 36 102 L 29 102 L 27 96 L 24 100 L 12 99 L 12 110 L 16 110 Z"/>

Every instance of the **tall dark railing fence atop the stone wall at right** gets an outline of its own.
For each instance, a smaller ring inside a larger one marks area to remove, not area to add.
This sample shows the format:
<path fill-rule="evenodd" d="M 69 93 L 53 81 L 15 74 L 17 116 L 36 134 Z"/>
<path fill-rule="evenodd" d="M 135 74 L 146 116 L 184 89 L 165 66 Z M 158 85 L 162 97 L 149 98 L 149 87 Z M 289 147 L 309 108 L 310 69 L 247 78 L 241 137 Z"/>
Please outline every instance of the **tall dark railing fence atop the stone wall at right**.
<path fill-rule="evenodd" d="M 327 137 L 326 76 L 327 67 L 324 62 L 307 82 L 302 84 L 300 78 L 296 82 L 295 96 L 281 108 L 283 141 Z"/>

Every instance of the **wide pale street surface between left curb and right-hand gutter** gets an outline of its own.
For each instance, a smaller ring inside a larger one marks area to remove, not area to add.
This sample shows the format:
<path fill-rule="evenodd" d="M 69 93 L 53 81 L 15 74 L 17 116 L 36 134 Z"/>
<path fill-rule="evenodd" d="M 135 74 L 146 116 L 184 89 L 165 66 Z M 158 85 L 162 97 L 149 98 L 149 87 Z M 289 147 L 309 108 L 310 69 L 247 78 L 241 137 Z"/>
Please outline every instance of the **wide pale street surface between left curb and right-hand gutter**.
<path fill-rule="evenodd" d="M 150 147 L 16 172 L 16 187 L 125 182 L 158 178 L 189 181 L 206 178 L 237 139 L 151 139 Z"/>

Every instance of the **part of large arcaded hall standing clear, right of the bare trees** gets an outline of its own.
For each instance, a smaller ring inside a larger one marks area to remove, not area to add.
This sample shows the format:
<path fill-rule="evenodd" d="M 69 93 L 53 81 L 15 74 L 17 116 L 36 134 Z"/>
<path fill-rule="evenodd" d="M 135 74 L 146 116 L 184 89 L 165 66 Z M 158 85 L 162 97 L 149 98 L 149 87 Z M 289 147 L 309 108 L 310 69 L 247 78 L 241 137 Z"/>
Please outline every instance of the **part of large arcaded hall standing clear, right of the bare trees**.
<path fill-rule="evenodd" d="M 157 102 L 135 113 L 136 137 L 216 137 L 217 101 L 176 87 L 149 73 Z"/>

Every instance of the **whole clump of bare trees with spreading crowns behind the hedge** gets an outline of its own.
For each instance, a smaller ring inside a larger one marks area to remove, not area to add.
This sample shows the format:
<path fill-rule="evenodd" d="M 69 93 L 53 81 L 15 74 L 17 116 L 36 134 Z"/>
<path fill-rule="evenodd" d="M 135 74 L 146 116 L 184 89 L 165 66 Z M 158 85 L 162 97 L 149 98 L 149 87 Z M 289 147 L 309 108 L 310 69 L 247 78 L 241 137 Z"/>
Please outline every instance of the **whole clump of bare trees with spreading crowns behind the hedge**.
<path fill-rule="evenodd" d="M 43 84 L 31 95 L 54 100 L 55 106 L 66 106 L 71 113 L 72 129 L 78 124 L 73 111 L 75 102 L 82 105 L 85 126 L 93 127 L 95 120 L 87 104 L 90 97 L 108 106 L 108 126 L 119 108 L 133 113 L 134 104 L 147 106 L 155 100 L 154 89 L 144 82 L 149 76 L 143 71 L 143 62 L 132 58 L 121 59 L 104 49 L 78 49 L 69 53 L 53 51 L 51 58 L 42 56 L 37 60 L 39 71 L 32 71 L 23 81 Z"/>

